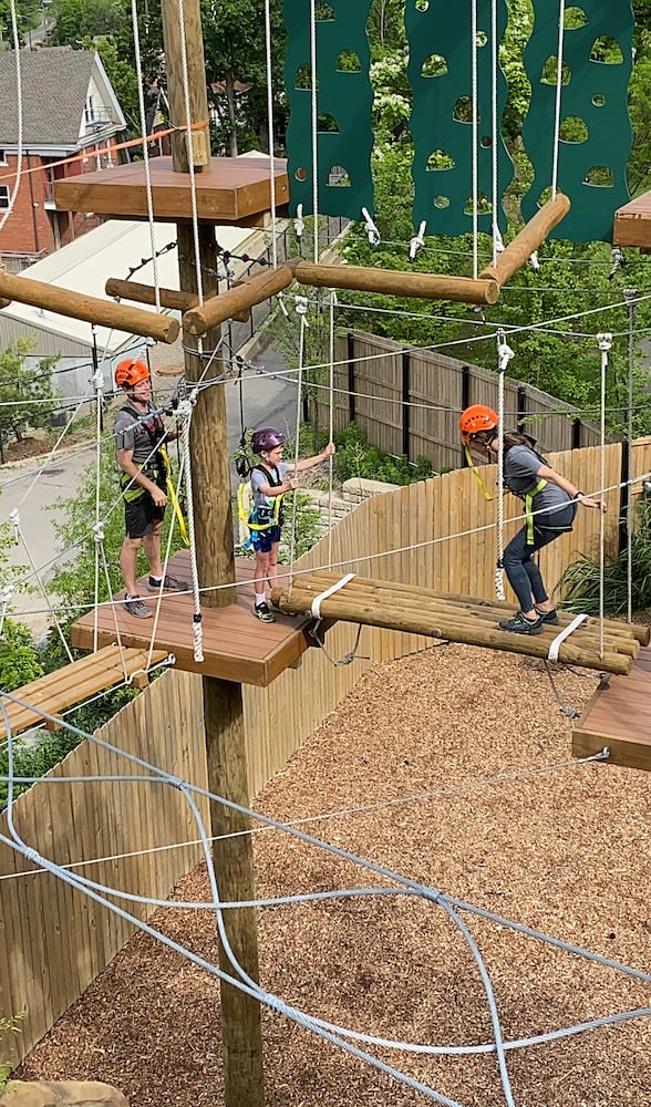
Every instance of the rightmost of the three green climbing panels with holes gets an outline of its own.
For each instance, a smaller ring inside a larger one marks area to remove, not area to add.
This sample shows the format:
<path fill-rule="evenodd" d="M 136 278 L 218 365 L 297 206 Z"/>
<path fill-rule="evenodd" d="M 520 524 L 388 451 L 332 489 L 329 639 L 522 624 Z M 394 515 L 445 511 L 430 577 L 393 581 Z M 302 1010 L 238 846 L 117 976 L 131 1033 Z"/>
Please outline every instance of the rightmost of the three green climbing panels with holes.
<path fill-rule="evenodd" d="M 521 204 L 525 219 L 547 198 L 552 182 L 558 15 L 557 2 L 534 0 L 534 29 L 524 54 L 531 102 L 523 139 L 535 178 Z M 557 238 L 610 241 L 613 213 L 629 199 L 632 37 L 629 0 L 566 3 L 558 187 L 572 207 L 552 232 Z"/>

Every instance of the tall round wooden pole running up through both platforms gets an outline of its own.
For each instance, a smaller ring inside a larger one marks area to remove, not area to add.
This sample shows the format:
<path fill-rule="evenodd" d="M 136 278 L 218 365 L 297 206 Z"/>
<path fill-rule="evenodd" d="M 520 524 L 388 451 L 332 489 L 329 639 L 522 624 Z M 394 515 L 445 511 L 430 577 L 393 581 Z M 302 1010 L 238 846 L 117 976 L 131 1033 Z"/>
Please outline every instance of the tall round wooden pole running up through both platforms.
<path fill-rule="evenodd" d="M 199 175 L 210 163 L 206 70 L 202 38 L 199 0 L 185 0 L 184 23 L 179 27 L 177 0 L 162 0 L 163 38 L 167 73 L 167 95 L 172 121 L 177 126 L 204 123 L 203 128 L 177 132 L 172 136 L 173 168 L 176 173 Z M 185 56 L 184 56 L 185 54 Z M 187 65 L 187 95 L 184 69 Z M 200 266 L 203 292 L 217 292 L 215 227 L 202 221 L 198 228 L 198 257 L 194 228 L 177 225 L 179 286 L 182 292 L 197 294 Z M 204 353 L 219 341 L 219 328 L 204 337 Z M 223 372 L 217 355 L 204 376 L 207 360 L 198 352 L 196 339 L 186 337 L 185 371 L 188 382 L 209 384 Z M 228 454 L 226 395 L 221 384 L 199 392 L 192 424 L 193 494 L 197 567 L 203 586 L 235 583 L 232 554 L 232 513 L 230 506 L 230 465 Z M 223 607 L 235 600 L 235 589 L 217 589 L 204 594 L 207 607 Z M 204 718 L 208 787 L 242 807 L 248 807 L 248 772 L 245 746 L 241 685 L 205 676 Z M 219 896 L 224 901 L 255 899 L 252 844 L 247 817 L 219 803 L 210 805 L 215 838 L 213 860 Z M 241 831 L 245 831 L 244 834 Z M 227 837 L 228 836 L 228 837 Z M 245 972 L 258 981 L 258 937 L 255 908 L 224 913 L 226 933 L 232 952 Z M 237 973 L 219 942 L 219 965 L 230 976 Z M 221 1035 L 226 1107 L 264 1107 L 262 1035 L 260 1005 L 239 989 L 221 983 Z"/>

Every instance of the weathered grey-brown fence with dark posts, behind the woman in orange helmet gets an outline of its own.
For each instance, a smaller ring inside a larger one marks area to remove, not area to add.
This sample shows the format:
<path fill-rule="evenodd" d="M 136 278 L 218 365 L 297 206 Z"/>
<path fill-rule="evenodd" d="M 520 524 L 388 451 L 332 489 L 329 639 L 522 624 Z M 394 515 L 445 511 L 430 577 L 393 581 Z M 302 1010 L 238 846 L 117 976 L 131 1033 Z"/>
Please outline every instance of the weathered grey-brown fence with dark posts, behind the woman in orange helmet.
<path fill-rule="evenodd" d="M 309 369 L 304 373 L 309 380 Z M 426 457 L 438 472 L 465 464 L 459 413 L 469 404 L 497 404 L 495 372 L 355 331 L 337 337 L 333 383 L 335 431 L 354 422 L 384 453 L 404 454 L 410 462 Z M 317 404 L 319 425 L 328 426 L 327 392 L 319 392 Z M 599 427 L 570 404 L 509 377 L 505 412 L 512 426 L 537 416 L 525 428 L 540 439 L 545 452 L 600 442 Z"/>

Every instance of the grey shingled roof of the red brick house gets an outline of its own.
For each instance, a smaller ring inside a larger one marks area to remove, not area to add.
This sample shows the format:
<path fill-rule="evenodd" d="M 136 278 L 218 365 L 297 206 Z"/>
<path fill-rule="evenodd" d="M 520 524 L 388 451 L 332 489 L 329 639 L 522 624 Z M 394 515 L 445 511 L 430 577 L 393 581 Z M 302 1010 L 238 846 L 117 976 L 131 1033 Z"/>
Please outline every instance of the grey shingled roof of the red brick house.
<path fill-rule="evenodd" d="M 21 50 L 20 69 L 23 144 L 76 146 L 91 76 L 103 75 L 97 54 L 70 46 Z M 17 87 L 16 52 L 0 51 L 0 147 L 18 143 Z"/>

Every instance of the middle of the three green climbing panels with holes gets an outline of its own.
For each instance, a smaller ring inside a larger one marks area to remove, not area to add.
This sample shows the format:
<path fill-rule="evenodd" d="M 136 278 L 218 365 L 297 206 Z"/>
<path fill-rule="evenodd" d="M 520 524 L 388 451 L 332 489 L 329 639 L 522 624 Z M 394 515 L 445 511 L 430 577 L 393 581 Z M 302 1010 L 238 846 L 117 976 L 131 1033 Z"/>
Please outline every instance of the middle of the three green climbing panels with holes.
<path fill-rule="evenodd" d="M 497 41 L 507 20 L 498 6 Z M 415 155 L 414 225 L 427 223 L 428 235 L 463 235 L 473 230 L 473 49 L 469 3 L 406 0 L 410 44 L 409 79 L 413 91 L 411 132 Z M 493 39 L 490 0 L 477 0 L 477 194 L 479 230 L 493 228 Z M 497 131 L 507 95 L 500 70 L 496 82 Z M 506 147 L 498 137 L 498 197 L 512 179 Z M 498 200 L 495 221 L 506 218 Z"/>

